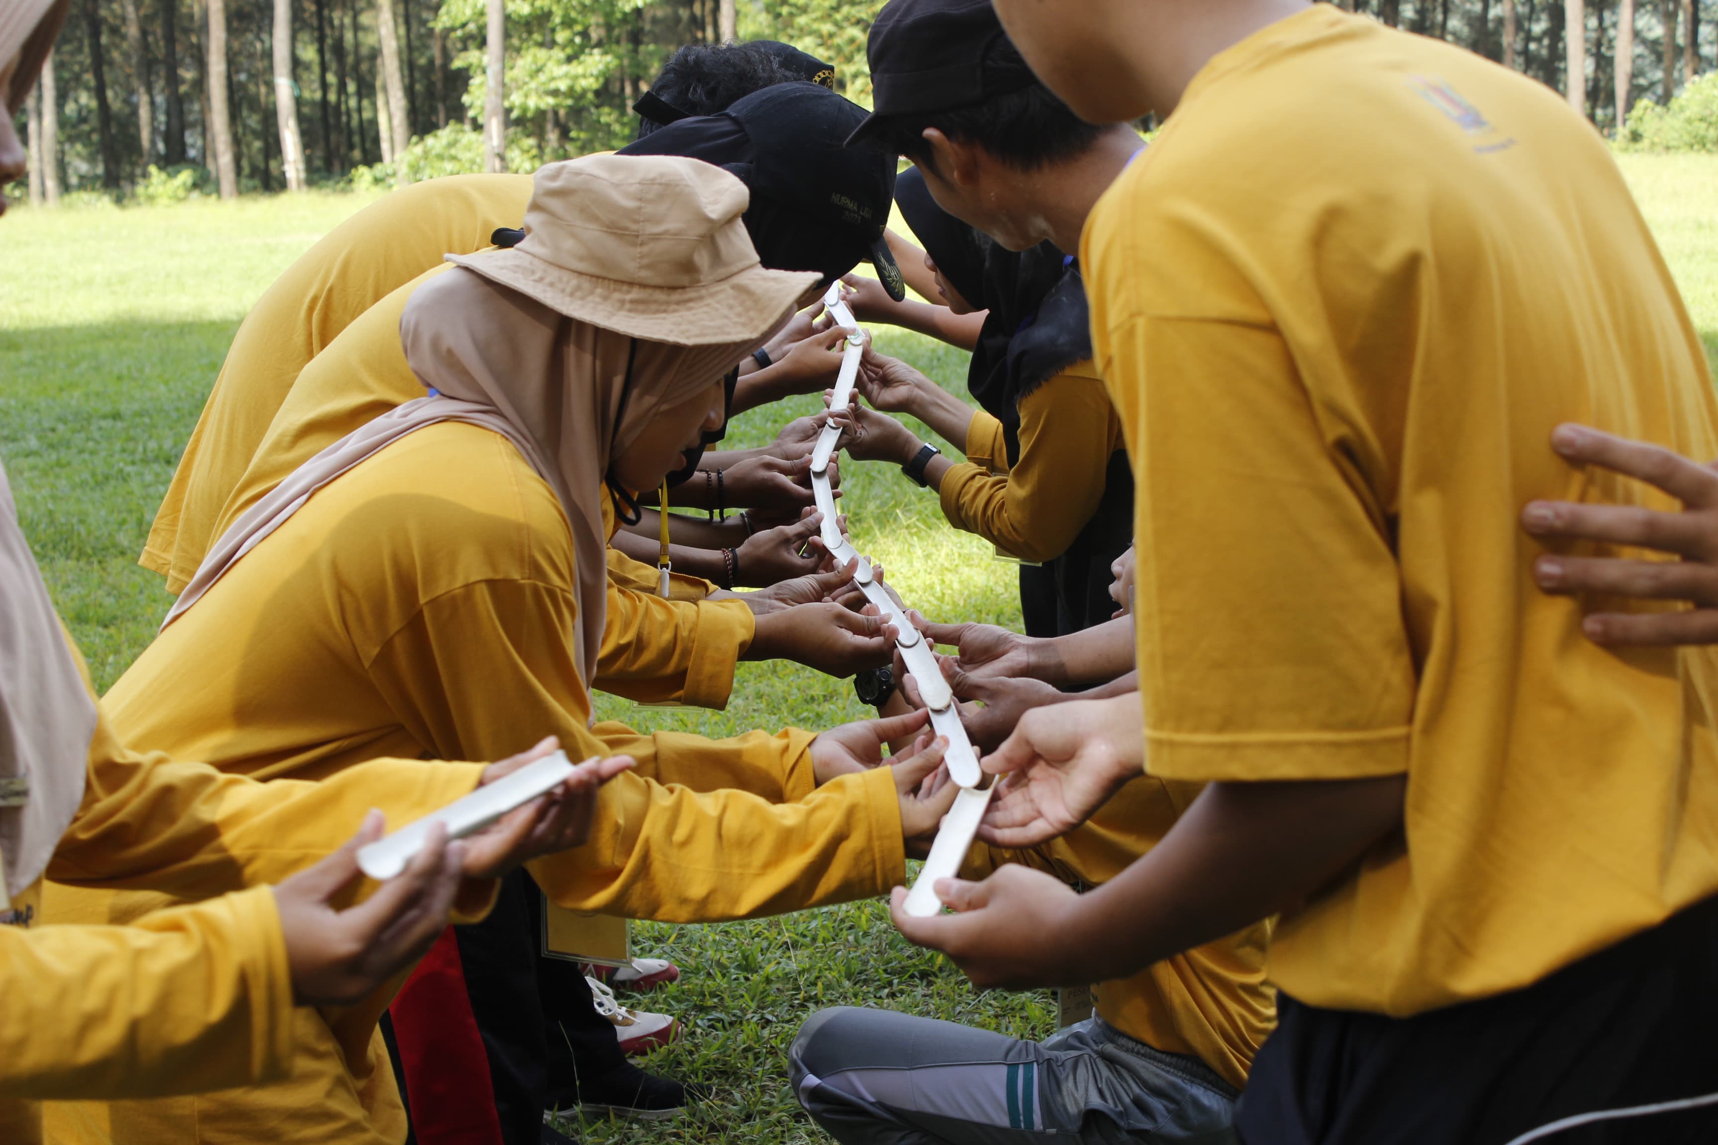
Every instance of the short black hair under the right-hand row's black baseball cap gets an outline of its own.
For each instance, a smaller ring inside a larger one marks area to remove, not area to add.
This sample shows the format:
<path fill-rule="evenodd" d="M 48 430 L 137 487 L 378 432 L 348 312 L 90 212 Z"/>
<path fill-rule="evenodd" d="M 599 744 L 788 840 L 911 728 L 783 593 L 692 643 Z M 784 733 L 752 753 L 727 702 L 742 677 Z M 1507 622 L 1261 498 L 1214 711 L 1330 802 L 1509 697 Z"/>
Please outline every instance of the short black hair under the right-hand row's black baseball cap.
<path fill-rule="evenodd" d="M 1005 36 L 998 36 L 984 48 L 984 67 L 1024 69 L 1026 60 Z M 931 146 L 924 141 L 926 127 L 935 127 L 950 139 L 978 144 L 1022 172 L 1079 154 L 1103 130 L 1074 115 L 1069 105 L 1033 81 L 964 108 L 878 115 L 869 142 L 936 170 Z"/>

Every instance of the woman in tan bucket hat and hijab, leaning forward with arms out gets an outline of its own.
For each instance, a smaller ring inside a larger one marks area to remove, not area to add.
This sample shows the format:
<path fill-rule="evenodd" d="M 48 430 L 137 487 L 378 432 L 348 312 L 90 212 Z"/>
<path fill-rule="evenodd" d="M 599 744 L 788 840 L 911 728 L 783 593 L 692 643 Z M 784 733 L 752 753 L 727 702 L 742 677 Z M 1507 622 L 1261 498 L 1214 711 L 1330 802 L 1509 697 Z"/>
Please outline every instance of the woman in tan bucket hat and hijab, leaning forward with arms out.
<path fill-rule="evenodd" d="M 454 939 L 462 956 L 483 951 L 466 961 L 483 989 L 423 1003 L 443 1015 L 472 1008 L 484 1035 L 509 1035 L 510 1052 L 529 1063 L 529 1076 L 495 1094 L 505 1140 L 536 1140 L 550 1087 L 538 886 L 577 910 L 665 920 L 876 894 L 902 877 L 907 839 L 928 838 L 952 798 L 916 793 L 940 760 L 936 743 L 876 766 L 880 745 L 911 740 L 923 714 L 727 742 L 589 726 L 608 486 L 648 489 L 684 460 L 720 419 L 728 364 L 816 275 L 758 264 L 739 221 L 746 189 L 716 167 L 606 156 L 550 165 L 536 180 L 531 239 L 462 259 L 404 314 L 407 357 L 438 397 L 369 422 L 259 501 L 108 697 L 137 743 L 198 745 L 216 766 L 258 778 L 323 778 L 380 754 L 507 743 L 545 719 L 576 750 L 631 748 L 637 771 L 613 781 L 625 790 L 605 790 L 591 839 L 534 865 L 533 882 L 503 893 L 505 912 L 469 929 L 471 944 L 464 930 Z M 584 228 L 629 227 L 639 233 L 625 242 L 576 242 Z M 644 227 L 694 230 L 699 244 L 670 261 L 655 242 L 661 232 Z M 479 273 L 509 268 L 534 276 L 524 282 L 531 295 Z M 617 282 L 634 283 L 625 302 Z M 665 335 L 701 342 L 670 345 Z M 62 905 L 77 908 L 77 894 Z M 110 917 L 156 905 L 82 901 Z M 519 1028 L 527 1020 L 534 1040 Z M 395 1013 L 395 1028 L 404 1025 Z M 371 1140 L 366 1126 L 387 1124 L 392 1092 L 368 1094 L 359 1111 L 311 1094 L 342 1059 L 375 1059 L 373 1028 L 375 1011 L 301 1023 L 301 1069 L 289 1085 L 112 1116 L 163 1142 L 297 1130 Z M 443 1030 L 443 1040 L 454 1035 Z"/>

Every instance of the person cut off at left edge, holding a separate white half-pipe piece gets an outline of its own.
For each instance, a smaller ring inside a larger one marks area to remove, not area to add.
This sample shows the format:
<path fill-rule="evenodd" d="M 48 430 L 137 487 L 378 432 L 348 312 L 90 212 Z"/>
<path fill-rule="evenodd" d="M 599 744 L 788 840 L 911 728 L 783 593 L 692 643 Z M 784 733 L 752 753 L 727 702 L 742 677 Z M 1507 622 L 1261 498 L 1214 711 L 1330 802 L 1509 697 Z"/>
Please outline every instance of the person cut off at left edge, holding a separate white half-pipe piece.
<path fill-rule="evenodd" d="M 0 185 L 26 167 L 9 108 L 27 96 L 67 7 L 38 0 L 0 12 Z M 584 764 L 467 841 L 433 829 L 405 870 L 369 894 L 356 855 L 383 817 L 364 807 L 416 819 L 541 757 L 553 740 L 493 767 L 378 759 L 326 785 L 261 785 L 137 755 L 96 706 L 3 469 L 0 682 L 0 1140 L 15 1145 L 41 1140 L 41 1099 L 283 1076 L 295 1006 L 357 1001 L 416 961 L 450 912 L 483 913 L 497 874 L 582 841 L 589 791 L 629 762 Z M 342 845 L 357 819 L 359 834 Z M 134 927 L 40 925 L 45 874 L 151 888 L 189 905 Z"/>

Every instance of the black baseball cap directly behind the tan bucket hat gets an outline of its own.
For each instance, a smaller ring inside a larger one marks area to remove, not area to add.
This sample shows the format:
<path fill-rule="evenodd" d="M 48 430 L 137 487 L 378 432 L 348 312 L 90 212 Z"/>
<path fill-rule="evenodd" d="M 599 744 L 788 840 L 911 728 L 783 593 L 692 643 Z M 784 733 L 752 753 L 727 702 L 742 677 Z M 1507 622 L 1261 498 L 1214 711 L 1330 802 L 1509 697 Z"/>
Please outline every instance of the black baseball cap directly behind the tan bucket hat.
<path fill-rule="evenodd" d="M 883 239 L 895 160 L 845 139 L 864 108 L 813 82 L 775 84 L 727 112 L 682 118 L 618 154 L 684 154 L 751 189 L 746 230 L 770 270 L 814 270 L 825 282 L 869 259 L 892 299 L 907 297 Z"/>

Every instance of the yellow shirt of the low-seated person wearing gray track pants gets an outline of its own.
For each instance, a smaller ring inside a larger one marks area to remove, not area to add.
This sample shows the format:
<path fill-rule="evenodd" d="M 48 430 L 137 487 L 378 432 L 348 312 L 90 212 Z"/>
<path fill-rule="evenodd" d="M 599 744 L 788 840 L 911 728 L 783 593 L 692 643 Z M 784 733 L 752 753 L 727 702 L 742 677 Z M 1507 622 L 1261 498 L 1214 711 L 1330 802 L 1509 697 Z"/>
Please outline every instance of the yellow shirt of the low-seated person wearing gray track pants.
<path fill-rule="evenodd" d="M 962 877 L 983 879 L 1003 863 L 1048 870 L 1070 884 L 1101 886 L 1149 851 L 1199 795 L 1199 783 L 1130 779 L 1069 834 L 1031 850 L 974 845 Z M 1276 1025 L 1276 996 L 1264 982 L 1270 924 L 1165 958 L 1130 978 L 1098 984 L 1098 1013 L 1122 1033 L 1170 1054 L 1192 1054 L 1235 1088 Z"/>

